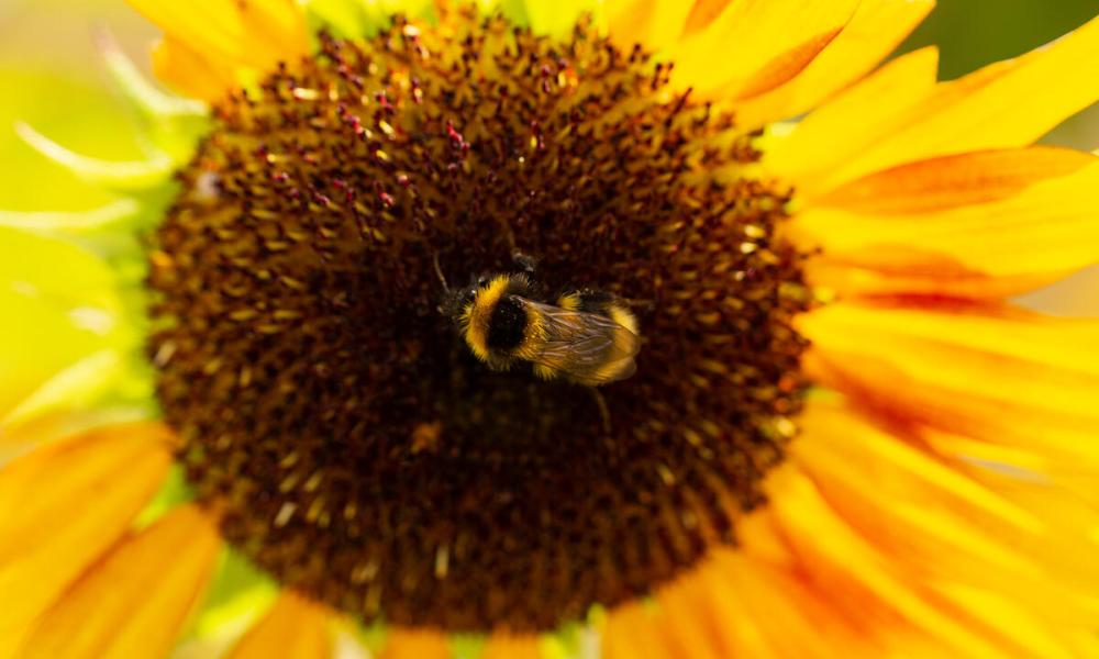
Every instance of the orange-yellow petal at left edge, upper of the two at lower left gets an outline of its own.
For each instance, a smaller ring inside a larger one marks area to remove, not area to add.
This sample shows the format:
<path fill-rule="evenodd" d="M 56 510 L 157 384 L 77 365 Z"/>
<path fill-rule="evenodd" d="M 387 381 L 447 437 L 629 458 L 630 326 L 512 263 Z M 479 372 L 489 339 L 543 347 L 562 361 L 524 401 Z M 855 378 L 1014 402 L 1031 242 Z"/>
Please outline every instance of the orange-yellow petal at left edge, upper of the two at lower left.
<path fill-rule="evenodd" d="M 167 429 L 103 427 L 0 470 L 0 656 L 119 537 L 170 463 Z"/>

